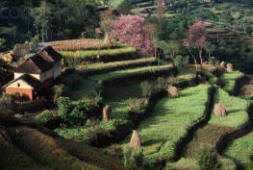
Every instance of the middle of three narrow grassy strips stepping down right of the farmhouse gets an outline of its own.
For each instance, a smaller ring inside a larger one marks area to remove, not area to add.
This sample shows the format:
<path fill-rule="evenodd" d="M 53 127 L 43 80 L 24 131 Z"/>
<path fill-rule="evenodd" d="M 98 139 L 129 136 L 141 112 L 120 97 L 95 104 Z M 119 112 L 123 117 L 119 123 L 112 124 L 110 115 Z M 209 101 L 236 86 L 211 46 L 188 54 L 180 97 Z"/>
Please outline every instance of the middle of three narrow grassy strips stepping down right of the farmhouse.
<path fill-rule="evenodd" d="M 91 64 L 91 65 L 85 66 L 80 71 L 82 74 L 90 75 L 90 74 L 98 74 L 101 72 L 105 73 L 109 71 L 114 71 L 116 69 L 143 66 L 143 65 L 153 64 L 153 63 L 156 63 L 156 59 L 154 57 L 148 57 L 148 58 L 141 58 L 141 59 L 135 59 L 135 60 Z"/>

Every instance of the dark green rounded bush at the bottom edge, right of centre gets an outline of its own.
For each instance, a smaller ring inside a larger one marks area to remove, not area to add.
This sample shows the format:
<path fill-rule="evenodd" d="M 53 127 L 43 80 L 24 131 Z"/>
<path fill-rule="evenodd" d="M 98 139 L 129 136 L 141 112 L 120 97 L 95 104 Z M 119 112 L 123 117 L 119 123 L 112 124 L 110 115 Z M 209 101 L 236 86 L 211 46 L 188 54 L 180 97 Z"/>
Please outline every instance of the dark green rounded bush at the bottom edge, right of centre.
<path fill-rule="evenodd" d="M 200 148 L 197 161 L 200 169 L 217 170 L 221 168 L 215 150 L 208 145 L 203 145 Z"/>

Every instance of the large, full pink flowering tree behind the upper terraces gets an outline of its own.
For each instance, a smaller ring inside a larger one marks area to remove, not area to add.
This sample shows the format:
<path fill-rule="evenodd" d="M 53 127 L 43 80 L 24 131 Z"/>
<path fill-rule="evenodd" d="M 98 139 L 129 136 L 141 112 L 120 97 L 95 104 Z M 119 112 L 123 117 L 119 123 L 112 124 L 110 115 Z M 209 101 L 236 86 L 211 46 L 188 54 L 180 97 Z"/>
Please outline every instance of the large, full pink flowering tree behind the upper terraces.
<path fill-rule="evenodd" d="M 154 55 L 152 34 L 145 19 L 137 15 L 122 15 L 112 23 L 110 35 L 121 43 Z"/>

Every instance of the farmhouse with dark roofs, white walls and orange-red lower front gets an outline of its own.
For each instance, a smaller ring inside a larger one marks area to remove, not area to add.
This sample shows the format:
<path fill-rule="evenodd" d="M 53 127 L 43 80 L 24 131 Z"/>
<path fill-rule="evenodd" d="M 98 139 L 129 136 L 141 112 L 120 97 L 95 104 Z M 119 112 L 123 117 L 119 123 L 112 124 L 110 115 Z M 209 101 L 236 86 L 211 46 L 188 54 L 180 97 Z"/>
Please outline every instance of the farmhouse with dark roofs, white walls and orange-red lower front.
<path fill-rule="evenodd" d="M 4 86 L 5 92 L 33 100 L 61 75 L 61 58 L 52 47 L 43 48 L 14 69 L 14 80 Z"/>

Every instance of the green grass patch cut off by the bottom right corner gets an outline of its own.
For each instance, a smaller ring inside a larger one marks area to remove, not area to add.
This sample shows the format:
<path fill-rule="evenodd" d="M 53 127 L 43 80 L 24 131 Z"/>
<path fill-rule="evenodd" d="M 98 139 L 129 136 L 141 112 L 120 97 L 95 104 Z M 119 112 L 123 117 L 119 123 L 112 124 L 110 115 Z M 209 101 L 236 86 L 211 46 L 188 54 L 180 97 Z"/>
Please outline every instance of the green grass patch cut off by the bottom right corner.
<path fill-rule="evenodd" d="M 250 159 L 253 156 L 253 132 L 246 136 L 238 138 L 226 149 L 224 155 L 239 161 L 245 169 L 252 169 L 253 162 Z"/>

